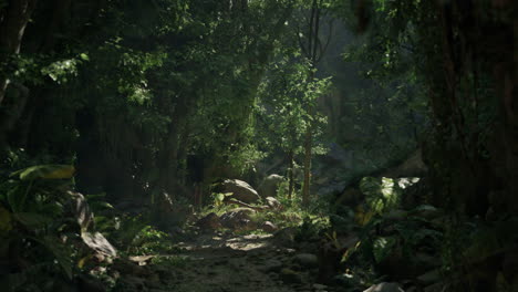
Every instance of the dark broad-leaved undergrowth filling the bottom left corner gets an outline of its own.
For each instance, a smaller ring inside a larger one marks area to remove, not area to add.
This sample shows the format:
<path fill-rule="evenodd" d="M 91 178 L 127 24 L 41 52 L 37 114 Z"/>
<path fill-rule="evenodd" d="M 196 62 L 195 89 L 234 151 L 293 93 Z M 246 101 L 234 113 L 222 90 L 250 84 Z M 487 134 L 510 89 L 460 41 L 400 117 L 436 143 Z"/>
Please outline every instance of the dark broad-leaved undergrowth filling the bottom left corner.
<path fill-rule="evenodd" d="M 8 253 L 29 268 L 12 267 L 12 291 L 30 286 L 33 273 L 58 272 L 72 279 L 79 250 L 70 241 L 77 225 L 69 215 L 66 189 L 71 166 L 34 166 L 14 173 L 0 185 L 0 258 Z M 66 175 L 65 175 L 66 173 Z M 61 178 L 56 180 L 56 178 Z M 69 239 L 69 240 L 66 240 Z M 40 281 L 39 279 L 38 281 Z"/>

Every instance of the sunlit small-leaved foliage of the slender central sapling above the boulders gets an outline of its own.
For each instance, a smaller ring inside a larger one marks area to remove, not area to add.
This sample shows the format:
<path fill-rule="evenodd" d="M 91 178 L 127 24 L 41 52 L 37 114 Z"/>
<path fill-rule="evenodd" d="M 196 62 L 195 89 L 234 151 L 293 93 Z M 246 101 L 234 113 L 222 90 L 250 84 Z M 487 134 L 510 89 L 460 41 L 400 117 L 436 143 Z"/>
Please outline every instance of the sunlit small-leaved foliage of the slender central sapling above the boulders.
<path fill-rule="evenodd" d="M 263 140 L 265 150 L 281 148 L 300 154 L 308 127 L 313 127 L 317 143 L 322 135 L 325 118 L 309 111 L 330 91 L 331 79 L 309 81 L 310 66 L 297 61 L 283 56 L 273 63 L 259 88 L 257 136 Z"/>

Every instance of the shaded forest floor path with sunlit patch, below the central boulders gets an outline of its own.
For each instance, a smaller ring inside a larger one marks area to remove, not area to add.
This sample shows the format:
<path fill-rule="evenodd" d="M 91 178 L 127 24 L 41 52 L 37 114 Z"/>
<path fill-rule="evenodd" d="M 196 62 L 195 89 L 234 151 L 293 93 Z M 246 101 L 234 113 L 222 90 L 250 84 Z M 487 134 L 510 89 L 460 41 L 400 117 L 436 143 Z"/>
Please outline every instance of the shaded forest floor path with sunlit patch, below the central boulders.
<path fill-rule="evenodd" d="M 151 292 L 331 291 L 314 283 L 314 254 L 280 247 L 271 234 L 206 233 L 178 248 L 180 252 L 170 257 L 133 258 L 145 272 L 141 278 L 122 275 L 126 285 L 121 291 L 143 291 L 139 286 Z"/>

